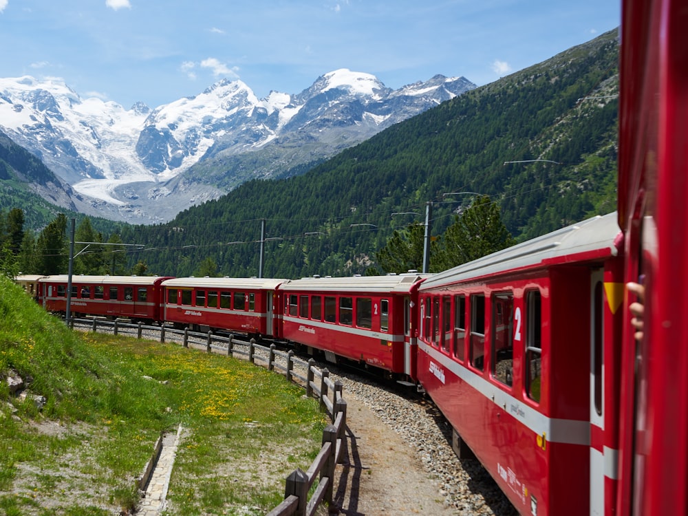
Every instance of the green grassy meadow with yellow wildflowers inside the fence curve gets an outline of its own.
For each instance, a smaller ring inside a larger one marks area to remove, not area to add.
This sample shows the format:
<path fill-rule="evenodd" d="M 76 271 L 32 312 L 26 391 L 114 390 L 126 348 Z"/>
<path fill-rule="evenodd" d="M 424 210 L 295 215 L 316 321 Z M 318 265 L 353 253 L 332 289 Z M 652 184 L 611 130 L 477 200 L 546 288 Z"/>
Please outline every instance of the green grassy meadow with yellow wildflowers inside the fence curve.
<path fill-rule="evenodd" d="M 110 515 L 160 431 L 182 425 L 167 515 L 263 514 L 307 469 L 325 418 L 283 376 L 175 344 L 68 330 L 0 279 L 0 516 Z"/>

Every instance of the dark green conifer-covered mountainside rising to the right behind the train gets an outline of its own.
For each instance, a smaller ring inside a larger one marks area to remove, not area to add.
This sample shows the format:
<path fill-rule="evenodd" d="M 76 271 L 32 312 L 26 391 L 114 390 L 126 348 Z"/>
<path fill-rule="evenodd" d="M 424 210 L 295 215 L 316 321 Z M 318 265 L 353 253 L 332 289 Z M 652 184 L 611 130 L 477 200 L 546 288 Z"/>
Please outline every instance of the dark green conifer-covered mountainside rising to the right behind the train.
<path fill-rule="evenodd" d="M 618 35 L 613 30 L 347 149 L 297 177 L 248 182 L 173 222 L 129 226 L 149 272 L 191 275 L 362 273 L 394 229 L 440 235 L 473 194 L 490 195 L 517 239 L 616 206 Z M 444 195 L 456 193 L 454 195 Z M 413 213 L 418 215 L 414 215 Z M 395 215 L 396 214 L 396 215 Z M 361 225 L 365 224 L 365 225 Z M 151 250 L 155 248 L 155 250 Z"/>

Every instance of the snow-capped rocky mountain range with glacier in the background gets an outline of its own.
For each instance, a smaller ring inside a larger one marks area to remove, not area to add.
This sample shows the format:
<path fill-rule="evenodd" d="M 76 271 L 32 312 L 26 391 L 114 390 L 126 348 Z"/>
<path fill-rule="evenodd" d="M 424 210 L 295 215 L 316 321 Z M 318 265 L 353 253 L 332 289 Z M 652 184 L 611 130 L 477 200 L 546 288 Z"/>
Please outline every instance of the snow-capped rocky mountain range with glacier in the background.
<path fill-rule="evenodd" d="M 248 178 L 325 159 L 473 87 L 435 76 L 393 90 L 338 69 L 295 95 L 259 99 L 241 80 L 221 80 L 195 97 L 127 110 L 82 99 L 61 80 L 0 78 L 0 128 L 94 198 L 98 215 L 158 222 Z"/>

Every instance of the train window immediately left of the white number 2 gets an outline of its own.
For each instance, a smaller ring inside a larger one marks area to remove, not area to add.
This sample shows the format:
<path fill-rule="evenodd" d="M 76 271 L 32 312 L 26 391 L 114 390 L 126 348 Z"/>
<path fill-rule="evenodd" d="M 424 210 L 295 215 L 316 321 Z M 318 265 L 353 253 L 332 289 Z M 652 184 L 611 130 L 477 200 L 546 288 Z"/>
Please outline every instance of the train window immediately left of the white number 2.
<path fill-rule="evenodd" d="M 493 297 L 492 376 L 509 386 L 513 383 L 513 311 L 513 293 L 504 292 Z"/>

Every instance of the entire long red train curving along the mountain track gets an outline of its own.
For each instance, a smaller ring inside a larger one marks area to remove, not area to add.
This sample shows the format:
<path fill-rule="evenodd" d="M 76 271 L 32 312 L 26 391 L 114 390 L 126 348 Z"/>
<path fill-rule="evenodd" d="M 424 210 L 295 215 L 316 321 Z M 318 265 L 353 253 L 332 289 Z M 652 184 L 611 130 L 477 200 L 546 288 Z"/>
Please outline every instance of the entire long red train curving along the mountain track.
<path fill-rule="evenodd" d="M 417 381 L 524 515 L 688 514 L 687 24 L 685 2 L 623 2 L 617 213 L 431 277 L 74 277 L 74 311 Z M 64 310 L 66 277 L 38 281 Z"/>

